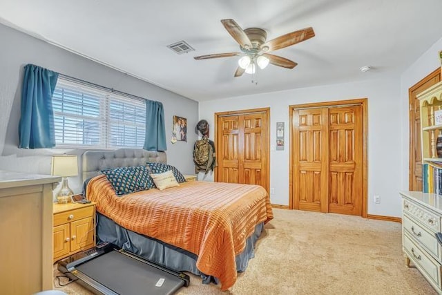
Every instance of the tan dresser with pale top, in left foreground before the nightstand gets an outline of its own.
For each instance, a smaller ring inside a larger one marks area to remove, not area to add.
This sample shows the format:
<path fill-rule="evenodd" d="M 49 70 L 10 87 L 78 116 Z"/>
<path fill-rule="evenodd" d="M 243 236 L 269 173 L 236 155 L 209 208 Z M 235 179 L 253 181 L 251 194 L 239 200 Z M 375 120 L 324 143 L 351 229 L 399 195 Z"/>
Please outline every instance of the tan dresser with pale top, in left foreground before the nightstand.
<path fill-rule="evenodd" d="M 0 171 L 0 294 L 52 289 L 52 189 L 60 180 Z"/>

